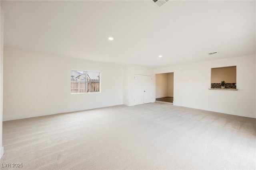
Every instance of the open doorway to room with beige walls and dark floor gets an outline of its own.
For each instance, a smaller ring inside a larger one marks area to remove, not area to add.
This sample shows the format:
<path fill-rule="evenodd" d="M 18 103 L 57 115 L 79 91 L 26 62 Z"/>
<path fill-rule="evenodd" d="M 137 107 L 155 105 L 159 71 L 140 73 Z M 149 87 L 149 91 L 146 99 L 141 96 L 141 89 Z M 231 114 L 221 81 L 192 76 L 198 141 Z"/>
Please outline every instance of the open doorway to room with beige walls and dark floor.
<path fill-rule="evenodd" d="M 156 74 L 156 101 L 173 103 L 174 73 Z"/>

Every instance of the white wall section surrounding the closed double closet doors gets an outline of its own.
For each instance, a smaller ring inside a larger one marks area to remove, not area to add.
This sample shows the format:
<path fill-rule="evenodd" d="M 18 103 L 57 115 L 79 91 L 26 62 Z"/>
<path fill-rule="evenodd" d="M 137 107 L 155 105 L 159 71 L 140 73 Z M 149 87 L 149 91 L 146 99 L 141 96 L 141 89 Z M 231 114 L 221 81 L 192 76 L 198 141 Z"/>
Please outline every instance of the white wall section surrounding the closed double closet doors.
<path fill-rule="evenodd" d="M 137 65 L 126 65 L 124 66 L 124 104 L 134 106 L 134 74 L 152 76 L 152 102 L 154 102 L 156 96 L 156 79 L 153 69 Z"/>

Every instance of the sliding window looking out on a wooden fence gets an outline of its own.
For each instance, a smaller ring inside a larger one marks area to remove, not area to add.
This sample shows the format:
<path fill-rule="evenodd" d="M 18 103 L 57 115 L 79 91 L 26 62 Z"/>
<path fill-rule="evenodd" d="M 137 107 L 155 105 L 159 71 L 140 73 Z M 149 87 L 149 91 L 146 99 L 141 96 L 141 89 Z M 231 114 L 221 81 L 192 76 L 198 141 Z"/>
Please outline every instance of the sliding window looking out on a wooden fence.
<path fill-rule="evenodd" d="M 100 72 L 71 70 L 71 93 L 100 92 Z"/>

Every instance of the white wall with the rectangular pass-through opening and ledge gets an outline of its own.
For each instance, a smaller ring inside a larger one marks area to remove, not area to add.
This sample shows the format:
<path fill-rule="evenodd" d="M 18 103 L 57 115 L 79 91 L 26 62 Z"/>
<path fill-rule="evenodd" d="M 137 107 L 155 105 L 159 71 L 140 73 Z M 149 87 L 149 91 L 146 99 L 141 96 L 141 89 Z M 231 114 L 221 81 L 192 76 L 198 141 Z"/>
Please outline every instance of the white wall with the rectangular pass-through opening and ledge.
<path fill-rule="evenodd" d="M 174 72 L 174 105 L 256 118 L 255 55 L 154 69 Z M 236 66 L 237 91 L 208 90 L 211 68 Z"/>

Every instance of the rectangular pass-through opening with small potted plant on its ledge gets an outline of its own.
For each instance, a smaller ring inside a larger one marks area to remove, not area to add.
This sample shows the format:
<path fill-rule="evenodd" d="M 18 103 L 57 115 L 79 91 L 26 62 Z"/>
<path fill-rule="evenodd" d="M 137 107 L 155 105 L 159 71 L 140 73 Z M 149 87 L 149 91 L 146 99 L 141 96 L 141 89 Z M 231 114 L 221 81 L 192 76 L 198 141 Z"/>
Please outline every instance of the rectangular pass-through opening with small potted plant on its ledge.
<path fill-rule="evenodd" d="M 236 89 L 236 66 L 212 68 L 211 88 L 221 88 L 221 81 L 226 82 L 227 89 Z"/>

